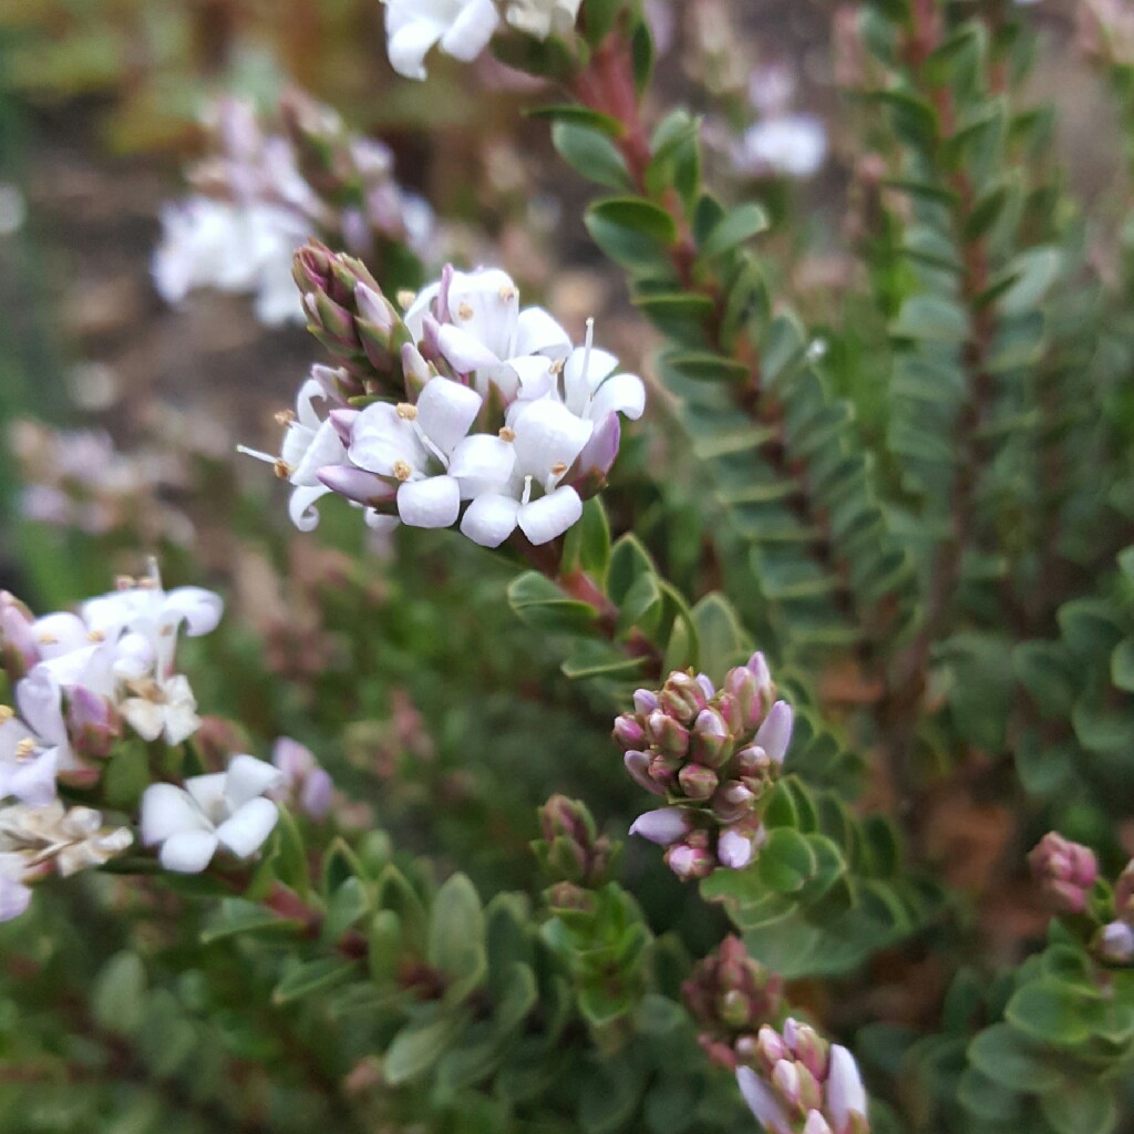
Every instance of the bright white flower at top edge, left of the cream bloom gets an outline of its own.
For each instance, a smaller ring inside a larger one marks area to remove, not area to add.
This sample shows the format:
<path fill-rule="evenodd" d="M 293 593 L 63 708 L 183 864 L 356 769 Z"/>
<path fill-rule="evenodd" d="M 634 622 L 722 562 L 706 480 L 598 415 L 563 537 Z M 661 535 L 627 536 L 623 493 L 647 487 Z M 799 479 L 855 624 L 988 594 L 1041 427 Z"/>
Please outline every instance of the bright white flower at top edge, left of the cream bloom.
<path fill-rule="evenodd" d="M 390 65 L 406 78 L 425 78 L 425 54 L 434 44 L 471 62 L 499 23 L 492 0 L 386 0 Z"/>

